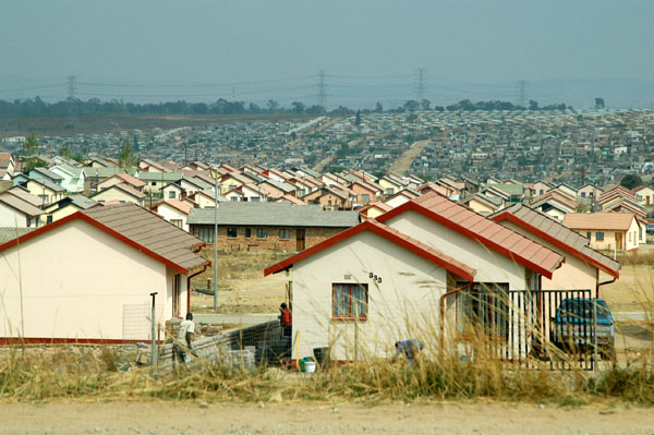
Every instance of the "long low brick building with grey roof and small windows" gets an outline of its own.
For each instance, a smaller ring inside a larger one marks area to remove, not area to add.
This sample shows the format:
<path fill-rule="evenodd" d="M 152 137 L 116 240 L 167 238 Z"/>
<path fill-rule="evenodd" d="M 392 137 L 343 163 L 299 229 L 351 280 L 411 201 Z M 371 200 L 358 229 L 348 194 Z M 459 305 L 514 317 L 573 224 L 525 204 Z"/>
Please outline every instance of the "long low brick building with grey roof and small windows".
<path fill-rule="evenodd" d="M 192 234 L 214 243 L 214 208 L 192 209 L 187 222 Z M 319 205 L 226 202 L 218 207 L 218 247 L 303 251 L 356 223 L 356 212 L 329 212 Z"/>

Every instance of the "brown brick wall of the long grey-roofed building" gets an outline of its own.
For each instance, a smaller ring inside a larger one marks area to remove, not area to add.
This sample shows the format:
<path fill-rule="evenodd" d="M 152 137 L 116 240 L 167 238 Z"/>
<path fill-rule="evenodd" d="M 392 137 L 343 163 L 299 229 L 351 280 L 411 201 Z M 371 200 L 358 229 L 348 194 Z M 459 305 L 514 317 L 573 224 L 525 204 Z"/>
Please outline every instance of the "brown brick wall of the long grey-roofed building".
<path fill-rule="evenodd" d="M 195 237 L 199 237 L 199 227 L 205 227 L 214 232 L 213 225 L 190 226 L 191 233 Z M 237 237 L 228 238 L 227 229 L 235 228 Z M 245 237 L 245 229 L 251 229 L 251 237 Z M 259 239 L 256 237 L 256 229 L 265 228 L 268 231 L 268 237 Z M 289 229 L 291 234 L 289 239 L 279 239 L 279 230 Z M 295 252 L 298 250 L 298 228 L 290 227 L 247 227 L 247 226 L 219 226 L 218 227 L 218 249 L 222 251 L 287 251 Z M 338 234 L 347 230 L 347 228 L 320 228 L 320 227 L 307 227 L 304 228 L 304 249 L 308 249 L 317 243 L 320 243 L 325 239 L 329 239 L 332 235 Z M 213 243 L 209 243 L 213 246 Z"/>

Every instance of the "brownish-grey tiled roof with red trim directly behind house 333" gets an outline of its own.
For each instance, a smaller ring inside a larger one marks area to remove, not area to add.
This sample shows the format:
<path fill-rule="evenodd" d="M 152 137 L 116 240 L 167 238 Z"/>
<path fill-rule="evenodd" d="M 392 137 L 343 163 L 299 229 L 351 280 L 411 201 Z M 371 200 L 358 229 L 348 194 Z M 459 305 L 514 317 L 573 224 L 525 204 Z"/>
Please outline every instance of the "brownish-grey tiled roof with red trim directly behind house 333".
<path fill-rule="evenodd" d="M 524 206 L 520 203 L 514 204 L 502 210 L 499 210 L 491 215 L 489 218 L 493 218 L 493 216 L 502 214 L 505 212 L 510 213 L 511 215 L 520 218 L 521 220 L 525 221 L 532 227 L 536 227 L 537 229 L 547 233 L 552 238 L 559 240 L 560 242 L 570 246 L 571 249 L 593 258 L 595 262 L 602 264 L 607 269 L 613 270 L 616 274 L 620 270 L 620 263 L 615 262 L 606 255 L 590 247 L 588 245 L 589 241 L 586 238 L 584 238 L 577 231 L 573 231 L 568 227 L 564 226 L 557 219 L 554 219 L 553 217 L 544 213 L 529 208 L 528 206 Z"/>

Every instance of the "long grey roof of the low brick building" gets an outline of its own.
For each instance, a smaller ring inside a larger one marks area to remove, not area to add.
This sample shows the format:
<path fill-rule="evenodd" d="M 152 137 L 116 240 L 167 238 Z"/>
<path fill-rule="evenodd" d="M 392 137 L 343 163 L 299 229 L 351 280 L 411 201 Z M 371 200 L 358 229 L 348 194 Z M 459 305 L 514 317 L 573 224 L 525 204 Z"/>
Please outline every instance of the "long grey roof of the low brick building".
<path fill-rule="evenodd" d="M 193 208 L 190 225 L 214 225 L 214 208 Z M 356 212 L 330 212 L 322 205 L 226 202 L 218 207 L 218 225 L 272 227 L 336 227 L 359 223 Z"/>

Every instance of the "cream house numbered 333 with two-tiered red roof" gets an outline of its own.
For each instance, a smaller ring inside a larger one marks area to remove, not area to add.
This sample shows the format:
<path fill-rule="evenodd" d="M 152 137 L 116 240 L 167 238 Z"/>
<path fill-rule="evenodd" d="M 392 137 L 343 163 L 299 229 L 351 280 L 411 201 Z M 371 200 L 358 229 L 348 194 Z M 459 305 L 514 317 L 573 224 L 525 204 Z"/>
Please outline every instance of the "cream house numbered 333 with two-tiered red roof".
<path fill-rule="evenodd" d="M 462 333 L 468 289 L 538 289 L 564 256 L 438 194 L 412 200 L 265 269 L 292 270 L 293 359 L 389 357 L 421 327 Z M 508 334 L 506 330 L 502 334 Z M 521 330 L 524 338 L 525 330 Z M 432 335 L 432 337 L 434 337 Z M 507 346 L 509 343 L 508 336 Z"/>

